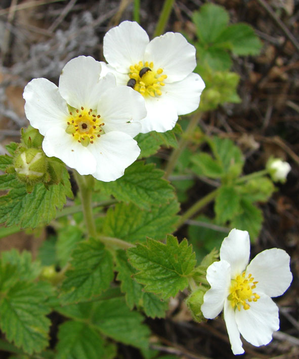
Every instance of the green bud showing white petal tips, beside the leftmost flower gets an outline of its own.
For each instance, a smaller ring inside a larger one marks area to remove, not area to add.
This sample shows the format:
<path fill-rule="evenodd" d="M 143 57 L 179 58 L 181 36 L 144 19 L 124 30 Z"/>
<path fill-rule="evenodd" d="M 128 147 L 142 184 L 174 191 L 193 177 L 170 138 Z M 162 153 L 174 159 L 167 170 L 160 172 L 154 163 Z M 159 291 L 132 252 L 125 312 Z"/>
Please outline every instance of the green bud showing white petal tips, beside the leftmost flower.
<path fill-rule="evenodd" d="M 37 148 L 20 150 L 15 157 L 14 167 L 20 181 L 29 185 L 42 182 L 47 175 L 47 157 Z"/>

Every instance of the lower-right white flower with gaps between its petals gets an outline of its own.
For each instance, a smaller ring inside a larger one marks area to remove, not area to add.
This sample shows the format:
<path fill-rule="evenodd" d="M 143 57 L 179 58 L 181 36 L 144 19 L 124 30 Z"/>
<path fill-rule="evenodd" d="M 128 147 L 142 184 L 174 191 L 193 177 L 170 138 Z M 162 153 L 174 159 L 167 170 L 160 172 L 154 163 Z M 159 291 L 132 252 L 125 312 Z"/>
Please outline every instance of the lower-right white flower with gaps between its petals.
<path fill-rule="evenodd" d="M 277 248 L 265 250 L 248 264 L 250 242 L 247 231 L 232 229 L 224 238 L 220 261 L 207 268 L 211 288 L 201 310 L 215 318 L 222 309 L 232 351 L 242 354 L 240 333 L 255 346 L 268 344 L 279 329 L 278 307 L 271 297 L 282 295 L 292 281 L 290 257 Z"/>

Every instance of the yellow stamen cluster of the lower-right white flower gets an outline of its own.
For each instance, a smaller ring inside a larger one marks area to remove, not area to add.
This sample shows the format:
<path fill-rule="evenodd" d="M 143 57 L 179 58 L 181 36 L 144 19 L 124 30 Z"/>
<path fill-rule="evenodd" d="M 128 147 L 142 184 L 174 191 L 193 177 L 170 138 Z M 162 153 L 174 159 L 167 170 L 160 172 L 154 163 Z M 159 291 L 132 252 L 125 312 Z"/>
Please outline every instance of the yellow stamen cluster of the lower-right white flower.
<path fill-rule="evenodd" d="M 241 310 L 241 305 L 245 310 L 250 308 L 248 302 L 256 302 L 260 296 L 257 293 L 252 293 L 252 289 L 258 282 L 253 282 L 254 278 L 251 274 L 245 277 L 245 272 L 241 275 L 237 275 L 235 279 L 231 281 L 230 294 L 227 297 L 231 301 L 232 307 Z"/>

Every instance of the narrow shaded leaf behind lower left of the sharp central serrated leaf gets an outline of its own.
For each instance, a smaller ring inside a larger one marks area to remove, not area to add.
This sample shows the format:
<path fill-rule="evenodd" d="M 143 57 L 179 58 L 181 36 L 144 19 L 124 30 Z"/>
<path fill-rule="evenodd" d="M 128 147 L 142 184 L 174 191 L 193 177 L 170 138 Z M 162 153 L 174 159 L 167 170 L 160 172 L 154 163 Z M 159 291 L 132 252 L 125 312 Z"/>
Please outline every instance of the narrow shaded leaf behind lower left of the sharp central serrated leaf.
<path fill-rule="evenodd" d="M 152 318 L 164 317 L 168 303 L 152 293 L 143 291 L 143 286 L 132 278 L 133 274 L 136 273 L 136 269 L 128 262 L 123 250 L 117 251 L 116 261 L 117 280 L 121 281 L 120 288 L 125 293 L 125 300 L 129 308 L 133 309 L 134 305 L 142 306 L 147 316 Z"/>

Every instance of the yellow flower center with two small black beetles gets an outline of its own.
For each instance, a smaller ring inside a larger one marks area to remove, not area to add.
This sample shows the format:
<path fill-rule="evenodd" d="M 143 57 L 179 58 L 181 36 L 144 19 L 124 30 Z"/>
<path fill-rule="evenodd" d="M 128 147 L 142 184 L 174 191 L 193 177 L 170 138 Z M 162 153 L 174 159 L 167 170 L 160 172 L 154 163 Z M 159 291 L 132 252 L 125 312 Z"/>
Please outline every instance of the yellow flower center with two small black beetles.
<path fill-rule="evenodd" d="M 163 81 L 167 78 L 167 75 L 162 75 L 162 72 L 161 68 L 154 70 L 153 62 L 139 61 L 138 64 L 130 66 L 130 80 L 127 82 L 127 86 L 132 87 L 143 96 L 161 96 L 160 88 L 165 86 Z"/>

